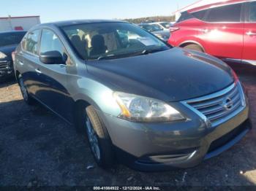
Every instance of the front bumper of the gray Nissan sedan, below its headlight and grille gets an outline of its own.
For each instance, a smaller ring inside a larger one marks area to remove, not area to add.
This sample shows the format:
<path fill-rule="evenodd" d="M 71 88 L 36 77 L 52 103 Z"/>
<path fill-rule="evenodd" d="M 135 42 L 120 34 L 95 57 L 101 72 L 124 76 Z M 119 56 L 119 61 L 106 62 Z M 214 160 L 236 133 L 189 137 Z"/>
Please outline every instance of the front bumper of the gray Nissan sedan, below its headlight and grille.
<path fill-rule="evenodd" d="M 117 157 L 140 171 L 191 168 L 229 149 L 252 128 L 248 104 L 235 117 L 214 128 L 209 128 L 191 111 L 192 120 L 165 123 L 129 122 L 108 114 L 100 115 Z"/>

